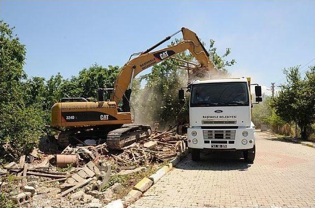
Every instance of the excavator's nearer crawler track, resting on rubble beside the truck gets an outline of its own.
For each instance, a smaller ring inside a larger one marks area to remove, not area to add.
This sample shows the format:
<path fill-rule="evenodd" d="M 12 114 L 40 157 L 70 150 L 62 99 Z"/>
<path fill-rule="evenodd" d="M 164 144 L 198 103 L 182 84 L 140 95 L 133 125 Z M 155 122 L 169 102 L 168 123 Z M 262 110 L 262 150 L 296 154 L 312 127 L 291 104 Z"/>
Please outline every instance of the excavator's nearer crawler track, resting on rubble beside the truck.
<path fill-rule="evenodd" d="M 109 148 L 120 150 L 136 141 L 148 138 L 151 132 L 150 126 L 126 126 L 110 131 L 106 143 Z"/>

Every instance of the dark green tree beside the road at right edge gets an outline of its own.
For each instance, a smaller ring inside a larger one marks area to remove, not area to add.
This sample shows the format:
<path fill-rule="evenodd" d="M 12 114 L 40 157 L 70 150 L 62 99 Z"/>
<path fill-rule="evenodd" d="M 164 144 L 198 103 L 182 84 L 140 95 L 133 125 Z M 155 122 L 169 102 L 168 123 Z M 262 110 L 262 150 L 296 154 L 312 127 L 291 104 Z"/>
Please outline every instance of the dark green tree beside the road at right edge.
<path fill-rule="evenodd" d="M 301 129 L 301 137 L 308 138 L 315 122 L 315 66 L 310 67 L 304 78 L 299 66 L 284 69 L 286 83 L 282 84 L 279 96 L 272 106 L 285 122 L 295 122 Z"/>

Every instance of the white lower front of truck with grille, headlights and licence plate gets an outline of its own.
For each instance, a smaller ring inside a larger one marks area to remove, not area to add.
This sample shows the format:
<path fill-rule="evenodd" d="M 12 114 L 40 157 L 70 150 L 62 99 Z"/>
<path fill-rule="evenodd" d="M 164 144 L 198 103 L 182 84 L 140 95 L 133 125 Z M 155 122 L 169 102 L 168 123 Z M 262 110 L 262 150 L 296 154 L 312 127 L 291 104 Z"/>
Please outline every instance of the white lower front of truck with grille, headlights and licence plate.
<path fill-rule="evenodd" d="M 247 136 L 243 135 L 244 131 L 248 132 Z M 188 147 L 193 149 L 219 149 L 222 151 L 231 149 L 247 150 L 253 148 L 255 144 L 254 132 L 255 132 L 254 128 L 239 129 L 188 128 L 187 130 Z"/>

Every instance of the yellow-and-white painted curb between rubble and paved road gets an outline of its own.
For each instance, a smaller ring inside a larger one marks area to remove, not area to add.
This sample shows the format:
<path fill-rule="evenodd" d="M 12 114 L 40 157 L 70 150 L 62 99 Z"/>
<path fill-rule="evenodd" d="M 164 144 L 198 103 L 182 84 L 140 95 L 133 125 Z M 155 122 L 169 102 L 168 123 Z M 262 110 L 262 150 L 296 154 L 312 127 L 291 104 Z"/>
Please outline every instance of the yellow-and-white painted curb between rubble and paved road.
<path fill-rule="evenodd" d="M 148 178 L 143 178 L 140 182 L 135 184 L 132 187 L 132 190 L 123 198 L 123 199 L 118 199 L 115 201 L 110 202 L 107 204 L 105 207 L 106 208 L 117 208 L 118 204 L 121 205 L 123 204 L 124 207 L 129 206 L 131 203 L 135 202 L 138 200 L 144 192 L 146 192 L 153 184 L 158 182 L 166 173 L 168 173 L 173 167 L 176 167 L 176 165 L 185 157 L 188 155 L 188 148 L 182 152 L 180 155 L 178 155 L 176 158 L 171 160 L 168 164 L 164 165 L 158 171 Z"/>

